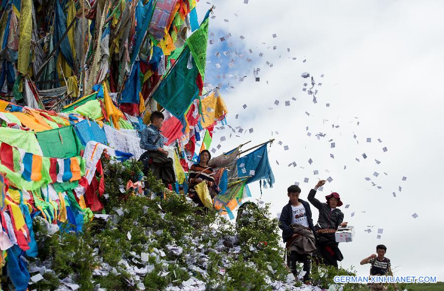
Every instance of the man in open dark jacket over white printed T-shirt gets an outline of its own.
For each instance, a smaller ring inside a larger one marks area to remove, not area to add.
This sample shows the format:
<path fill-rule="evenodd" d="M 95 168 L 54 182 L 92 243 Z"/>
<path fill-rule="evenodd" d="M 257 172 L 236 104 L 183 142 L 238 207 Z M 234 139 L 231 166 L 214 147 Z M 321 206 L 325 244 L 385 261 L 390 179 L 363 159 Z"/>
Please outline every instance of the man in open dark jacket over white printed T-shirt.
<path fill-rule="evenodd" d="M 296 263 L 303 262 L 303 271 L 305 271 L 303 280 L 305 284 L 309 284 L 311 254 L 316 251 L 316 234 L 310 205 L 299 199 L 300 188 L 298 186 L 291 185 L 287 192 L 290 200 L 282 209 L 279 218 L 279 228 L 282 229 L 282 238 L 286 243 L 287 263 L 296 277 Z"/>

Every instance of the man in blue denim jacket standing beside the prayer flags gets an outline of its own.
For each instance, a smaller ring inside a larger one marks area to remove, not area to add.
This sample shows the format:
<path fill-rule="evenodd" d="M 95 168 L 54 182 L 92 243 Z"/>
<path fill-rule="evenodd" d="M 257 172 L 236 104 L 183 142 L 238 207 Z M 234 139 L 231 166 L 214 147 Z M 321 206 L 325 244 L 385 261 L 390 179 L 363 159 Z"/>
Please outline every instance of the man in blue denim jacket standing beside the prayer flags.
<path fill-rule="evenodd" d="M 153 175 L 161 179 L 166 187 L 176 182 L 174 174 L 173 159 L 168 158 L 168 151 L 163 149 L 166 138 L 162 135 L 160 128 L 165 116 L 162 112 L 153 111 L 149 120 L 151 124 L 142 131 L 140 147 L 147 151 L 140 157 L 144 164 L 144 172 L 151 169 Z M 170 188 L 171 189 L 171 188 Z"/>

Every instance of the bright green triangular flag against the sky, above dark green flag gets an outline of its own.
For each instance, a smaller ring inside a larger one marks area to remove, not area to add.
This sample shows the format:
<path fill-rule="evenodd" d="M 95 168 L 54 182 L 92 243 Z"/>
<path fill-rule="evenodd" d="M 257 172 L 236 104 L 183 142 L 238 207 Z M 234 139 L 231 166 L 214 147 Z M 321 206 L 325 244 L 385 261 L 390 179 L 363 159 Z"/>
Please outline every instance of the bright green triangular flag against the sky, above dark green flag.
<path fill-rule="evenodd" d="M 186 44 L 189 46 L 202 80 L 204 80 L 207 63 L 208 23 L 209 19 L 207 18 L 200 28 L 186 39 Z"/>

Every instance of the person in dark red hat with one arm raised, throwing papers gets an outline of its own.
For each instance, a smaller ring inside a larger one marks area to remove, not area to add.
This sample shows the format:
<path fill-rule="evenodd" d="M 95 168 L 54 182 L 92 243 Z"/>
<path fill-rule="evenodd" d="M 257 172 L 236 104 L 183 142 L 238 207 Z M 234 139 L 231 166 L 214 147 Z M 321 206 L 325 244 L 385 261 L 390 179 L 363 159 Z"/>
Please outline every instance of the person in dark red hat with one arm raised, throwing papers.
<path fill-rule="evenodd" d="M 315 256 L 320 258 L 322 263 L 337 268 L 337 261 L 341 261 L 344 257 L 338 248 L 339 243 L 336 242 L 334 233 L 339 226 L 347 226 L 347 222 L 342 222 L 344 214 L 336 208 L 342 205 L 338 193 L 333 192 L 325 196 L 326 203 L 314 197 L 318 187 L 324 184 L 325 180 L 319 181 L 308 194 L 308 201 L 319 210 L 318 223 L 314 226 L 317 235 Z"/>

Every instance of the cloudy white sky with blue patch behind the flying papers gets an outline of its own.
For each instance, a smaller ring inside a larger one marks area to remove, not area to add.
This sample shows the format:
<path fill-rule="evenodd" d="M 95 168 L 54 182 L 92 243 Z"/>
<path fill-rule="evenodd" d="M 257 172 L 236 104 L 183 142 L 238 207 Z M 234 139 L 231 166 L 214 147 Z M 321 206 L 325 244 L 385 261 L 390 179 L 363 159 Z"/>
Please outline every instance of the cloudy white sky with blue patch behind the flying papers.
<path fill-rule="evenodd" d="M 343 268 L 368 275 L 370 265 L 359 262 L 384 244 L 395 275 L 444 281 L 444 2 L 210 2 L 197 3 L 200 20 L 216 6 L 205 82 L 222 84 L 226 119 L 236 131 L 215 130 L 213 155 L 275 139 L 268 154 L 276 181 L 261 197 L 259 182 L 251 183 L 253 201 L 271 203 L 276 217 L 288 203 L 288 186 L 299 182 L 306 200 L 318 179 L 331 177 L 316 197 L 323 201 L 338 192 L 344 221 L 355 227 L 353 242 L 339 244 Z M 307 93 L 311 79 L 302 78 L 304 72 L 314 78 L 317 103 Z M 288 166 L 293 162 L 296 167 Z"/>

